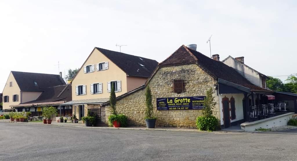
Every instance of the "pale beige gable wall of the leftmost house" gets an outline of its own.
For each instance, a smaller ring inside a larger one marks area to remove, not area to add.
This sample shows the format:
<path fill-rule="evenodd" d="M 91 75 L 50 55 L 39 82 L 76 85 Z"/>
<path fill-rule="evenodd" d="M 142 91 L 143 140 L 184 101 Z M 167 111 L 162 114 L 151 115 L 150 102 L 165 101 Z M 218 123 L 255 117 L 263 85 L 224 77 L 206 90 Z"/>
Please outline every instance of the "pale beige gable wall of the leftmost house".
<path fill-rule="evenodd" d="M 10 82 L 12 82 L 12 87 L 10 87 Z M 4 109 L 10 109 L 10 105 L 18 105 L 20 104 L 20 88 L 17 84 L 17 82 L 15 81 L 14 76 L 12 75 L 12 73 L 10 72 L 7 82 L 4 86 L 3 89 L 3 110 Z M 14 94 L 18 94 L 18 101 L 13 102 L 12 101 L 12 95 Z M 9 96 L 9 102 L 4 102 L 4 96 Z"/>

